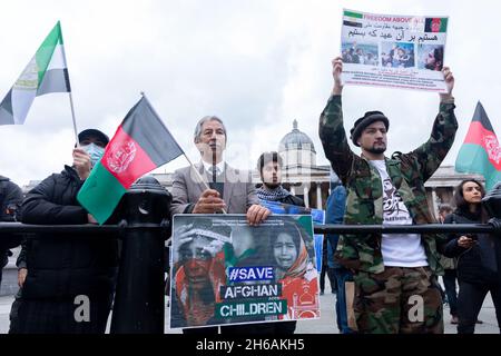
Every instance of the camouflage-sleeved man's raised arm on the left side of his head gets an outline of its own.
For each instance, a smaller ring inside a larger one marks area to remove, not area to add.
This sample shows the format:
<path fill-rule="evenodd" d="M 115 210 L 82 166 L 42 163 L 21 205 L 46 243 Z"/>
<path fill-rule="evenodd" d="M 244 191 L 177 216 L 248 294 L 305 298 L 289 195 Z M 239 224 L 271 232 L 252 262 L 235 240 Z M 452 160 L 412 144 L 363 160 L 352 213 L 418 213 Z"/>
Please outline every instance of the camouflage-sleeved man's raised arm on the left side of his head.
<path fill-rule="evenodd" d="M 350 148 L 343 126 L 343 110 L 341 105 L 341 93 L 343 91 L 341 73 L 343 72 L 343 61 L 341 57 L 333 59 L 332 68 L 334 87 L 327 106 L 320 117 L 318 135 L 324 147 L 325 157 L 331 161 L 332 168 L 343 184 L 346 184 L 346 178 L 355 155 Z"/>

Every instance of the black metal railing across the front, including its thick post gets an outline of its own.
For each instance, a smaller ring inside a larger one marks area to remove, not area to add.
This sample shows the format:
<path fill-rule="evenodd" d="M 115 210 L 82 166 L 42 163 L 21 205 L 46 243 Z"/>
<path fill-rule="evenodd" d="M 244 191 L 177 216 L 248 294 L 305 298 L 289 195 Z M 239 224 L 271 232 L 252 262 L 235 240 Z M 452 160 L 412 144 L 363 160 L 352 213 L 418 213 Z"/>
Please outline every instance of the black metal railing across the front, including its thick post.
<path fill-rule="evenodd" d="M 124 240 L 111 319 L 111 333 L 164 333 L 164 240 L 168 224 L 140 221 L 119 225 L 27 225 L 0 222 L 0 239 L 18 234 L 49 234 L 51 238 L 86 235 Z M 158 220 L 158 219 L 157 219 Z M 118 233 L 118 234 L 117 234 Z M 430 224 L 406 226 L 315 225 L 315 234 L 493 234 L 501 224 Z M 501 256 L 500 256 L 501 258 Z"/>

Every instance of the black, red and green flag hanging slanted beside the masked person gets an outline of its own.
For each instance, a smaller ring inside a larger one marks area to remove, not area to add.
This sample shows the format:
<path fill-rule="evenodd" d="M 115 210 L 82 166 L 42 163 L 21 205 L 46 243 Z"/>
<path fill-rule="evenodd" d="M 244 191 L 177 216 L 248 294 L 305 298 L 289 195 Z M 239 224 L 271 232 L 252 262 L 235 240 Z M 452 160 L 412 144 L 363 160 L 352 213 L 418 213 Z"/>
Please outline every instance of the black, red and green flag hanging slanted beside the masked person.
<path fill-rule="evenodd" d="M 104 224 L 139 177 L 180 155 L 183 149 L 143 97 L 118 127 L 77 199 Z"/>

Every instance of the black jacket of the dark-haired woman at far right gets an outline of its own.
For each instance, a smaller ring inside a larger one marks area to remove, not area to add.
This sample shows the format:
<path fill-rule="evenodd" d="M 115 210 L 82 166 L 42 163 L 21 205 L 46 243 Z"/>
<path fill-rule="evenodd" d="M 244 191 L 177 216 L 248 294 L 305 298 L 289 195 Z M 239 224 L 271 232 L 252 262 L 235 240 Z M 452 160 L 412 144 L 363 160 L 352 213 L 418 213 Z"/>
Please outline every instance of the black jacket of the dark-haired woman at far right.
<path fill-rule="evenodd" d="M 444 224 L 481 224 L 480 215 L 456 209 L 445 217 Z M 471 284 L 485 284 L 497 280 L 497 276 L 485 269 L 481 263 L 480 247 L 478 243 L 473 247 L 465 249 L 458 245 L 458 240 L 464 234 L 449 235 L 449 243 L 445 245 L 444 255 L 446 257 L 458 257 L 458 280 Z"/>

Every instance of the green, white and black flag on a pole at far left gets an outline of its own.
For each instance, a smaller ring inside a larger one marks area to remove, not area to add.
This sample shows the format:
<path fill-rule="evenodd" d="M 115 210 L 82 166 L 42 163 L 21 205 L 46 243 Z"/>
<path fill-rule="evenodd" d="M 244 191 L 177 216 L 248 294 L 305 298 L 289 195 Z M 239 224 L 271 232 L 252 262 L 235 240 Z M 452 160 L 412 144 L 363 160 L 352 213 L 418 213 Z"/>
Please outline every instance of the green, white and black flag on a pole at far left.
<path fill-rule="evenodd" d="M 24 123 L 36 97 L 70 91 L 61 24 L 58 21 L 0 103 L 0 125 Z"/>

